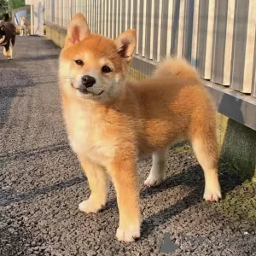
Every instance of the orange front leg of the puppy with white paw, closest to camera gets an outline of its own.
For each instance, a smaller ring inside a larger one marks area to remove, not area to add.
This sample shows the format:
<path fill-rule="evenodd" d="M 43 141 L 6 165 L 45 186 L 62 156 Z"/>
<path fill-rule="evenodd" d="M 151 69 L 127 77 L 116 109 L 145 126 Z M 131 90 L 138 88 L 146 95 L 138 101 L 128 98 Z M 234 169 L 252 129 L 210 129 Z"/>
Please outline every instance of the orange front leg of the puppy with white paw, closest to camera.
<path fill-rule="evenodd" d="M 134 241 L 140 236 L 140 205 L 137 161 L 115 159 L 109 168 L 119 207 L 119 241 Z"/>

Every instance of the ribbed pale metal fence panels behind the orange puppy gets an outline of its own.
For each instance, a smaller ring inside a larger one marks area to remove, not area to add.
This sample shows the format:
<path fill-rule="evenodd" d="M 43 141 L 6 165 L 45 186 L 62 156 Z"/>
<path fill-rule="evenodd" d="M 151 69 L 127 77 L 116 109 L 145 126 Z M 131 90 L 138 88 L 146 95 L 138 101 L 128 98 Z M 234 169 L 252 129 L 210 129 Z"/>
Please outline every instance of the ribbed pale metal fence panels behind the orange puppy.
<path fill-rule="evenodd" d="M 185 57 L 202 79 L 256 96 L 256 0 L 45 0 L 45 21 L 64 28 L 83 13 L 91 32 L 137 30 L 144 61 Z"/>

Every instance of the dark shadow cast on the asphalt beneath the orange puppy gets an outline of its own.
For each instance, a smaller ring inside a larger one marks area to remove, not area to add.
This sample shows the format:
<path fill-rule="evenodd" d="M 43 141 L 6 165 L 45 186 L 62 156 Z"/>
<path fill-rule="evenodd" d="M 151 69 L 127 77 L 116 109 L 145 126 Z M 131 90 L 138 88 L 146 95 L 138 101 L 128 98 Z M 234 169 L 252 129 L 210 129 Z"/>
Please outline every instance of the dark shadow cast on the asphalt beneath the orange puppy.
<path fill-rule="evenodd" d="M 237 185 L 241 184 L 241 179 L 239 177 L 230 175 L 230 172 L 224 171 L 224 169 L 227 169 L 226 166 L 220 167 L 219 174 L 223 197 L 227 192 L 235 189 Z M 168 219 L 172 218 L 172 216 L 177 215 L 185 209 L 193 207 L 203 201 L 204 177 L 201 166 L 191 166 L 186 172 L 172 175 L 172 177 L 168 177 L 157 188 L 143 189 L 141 197 L 150 197 L 155 193 L 160 193 L 165 189 L 170 189 L 178 185 L 185 185 L 195 189 L 193 189 L 188 196 L 184 197 L 183 200 L 177 201 L 174 205 L 171 205 L 165 210 L 157 212 L 149 218 L 144 219 L 142 224 L 143 239 L 146 239 L 158 225 L 165 224 Z M 154 223 L 154 225 L 152 225 L 152 223 Z"/>

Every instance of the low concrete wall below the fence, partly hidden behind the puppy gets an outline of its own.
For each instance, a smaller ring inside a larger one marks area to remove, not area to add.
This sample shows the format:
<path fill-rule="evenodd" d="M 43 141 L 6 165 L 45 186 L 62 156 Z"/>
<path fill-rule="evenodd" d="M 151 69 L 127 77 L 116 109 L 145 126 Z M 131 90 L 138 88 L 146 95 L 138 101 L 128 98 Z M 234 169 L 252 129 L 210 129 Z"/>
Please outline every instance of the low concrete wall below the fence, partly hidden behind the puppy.
<path fill-rule="evenodd" d="M 65 36 L 64 29 L 46 26 L 46 37 L 61 48 Z M 130 75 L 131 79 L 146 77 L 132 63 Z M 230 172 L 236 172 L 242 180 L 256 182 L 256 131 L 218 113 L 218 143 L 221 157 L 230 163 Z"/>

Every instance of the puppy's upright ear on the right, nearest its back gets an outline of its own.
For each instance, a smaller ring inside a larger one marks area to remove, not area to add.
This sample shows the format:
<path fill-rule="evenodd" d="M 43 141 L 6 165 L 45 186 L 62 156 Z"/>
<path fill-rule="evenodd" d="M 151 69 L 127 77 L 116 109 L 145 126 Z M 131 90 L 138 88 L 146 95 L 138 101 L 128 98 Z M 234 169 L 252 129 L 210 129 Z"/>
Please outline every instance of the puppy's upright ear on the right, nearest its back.
<path fill-rule="evenodd" d="M 114 40 L 114 43 L 116 44 L 119 55 L 124 58 L 125 61 L 130 62 L 137 44 L 136 31 L 129 29 L 121 33 L 119 37 Z"/>

